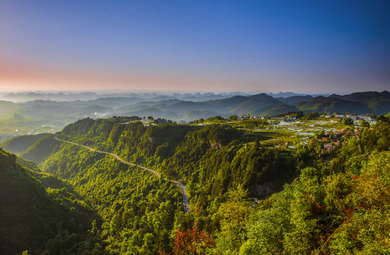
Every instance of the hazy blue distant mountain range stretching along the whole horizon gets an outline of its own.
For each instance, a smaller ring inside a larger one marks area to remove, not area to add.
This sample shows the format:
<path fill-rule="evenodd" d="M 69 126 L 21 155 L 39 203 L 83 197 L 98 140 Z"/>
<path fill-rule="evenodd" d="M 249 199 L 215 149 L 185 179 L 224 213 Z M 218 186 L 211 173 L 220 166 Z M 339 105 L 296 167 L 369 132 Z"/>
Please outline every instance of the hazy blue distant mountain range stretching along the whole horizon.
<path fill-rule="evenodd" d="M 292 96 L 289 96 L 292 95 Z M 68 101 L 43 100 L 13 103 L 15 96 L 33 98 L 67 98 Z M 69 101 L 69 96 L 73 101 Z M 319 113 L 356 113 L 386 115 L 390 112 L 389 91 L 367 91 L 347 95 L 301 95 L 293 93 L 256 94 L 243 93 L 195 93 L 158 94 L 124 93 L 104 94 L 9 94 L 0 101 L 0 119 L 18 127 L 50 125 L 64 127 L 79 118 L 107 118 L 110 116 L 138 115 L 140 117 L 166 118 L 174 121 L 191 121 L 215 115 L 276 115 L 289 111 Z M 9 98 L 11 97 L 11 99 Z M 95 98 L 98 97 L 98 98 Z M 93 98 L 82 100 L 82 98 Z M 191 100 L 189 100 L 191 99 Z M 18 124 L 18 125 L 17 125 Z M 47 129 L 50 130 L 50 129 Z M 1 131 L 1 130 L 0 130 Z"/>

